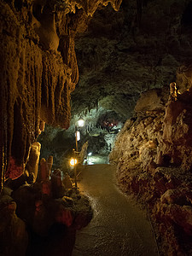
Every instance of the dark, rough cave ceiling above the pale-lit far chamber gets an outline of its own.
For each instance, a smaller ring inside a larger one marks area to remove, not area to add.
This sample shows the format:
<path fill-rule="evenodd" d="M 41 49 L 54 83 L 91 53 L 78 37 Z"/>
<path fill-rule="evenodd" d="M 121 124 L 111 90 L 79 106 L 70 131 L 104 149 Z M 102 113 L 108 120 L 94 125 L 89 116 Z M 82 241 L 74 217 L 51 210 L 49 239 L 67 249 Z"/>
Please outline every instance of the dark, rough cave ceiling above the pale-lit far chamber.
<path fill-rule="evenodd" d="M 143 92 L 160 88 L 168 94 L 177 69 L 192 55 L 191 6 L 191 1 L 123 0 L 118 12 L 110 5 L 97 9 L 75 38 L 79 83 L 72 113 L 99 105 L 127 119 Z"/>

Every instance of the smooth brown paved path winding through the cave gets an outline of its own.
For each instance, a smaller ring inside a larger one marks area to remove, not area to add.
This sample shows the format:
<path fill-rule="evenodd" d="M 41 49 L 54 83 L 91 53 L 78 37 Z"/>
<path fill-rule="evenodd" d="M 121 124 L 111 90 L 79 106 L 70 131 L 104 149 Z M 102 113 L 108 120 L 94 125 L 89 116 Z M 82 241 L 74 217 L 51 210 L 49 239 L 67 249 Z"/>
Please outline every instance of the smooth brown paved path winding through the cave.
<path fill-rule="evenodd" d="M 114 181 L 115 166 L 84 166 L 78 186 L 90 198 L 94 216 L 77 231 L 73 256 L 158 255 L 146 213 L 123 195 Z"/>

